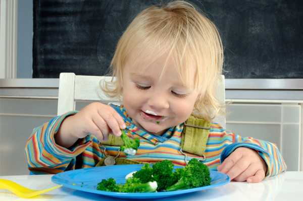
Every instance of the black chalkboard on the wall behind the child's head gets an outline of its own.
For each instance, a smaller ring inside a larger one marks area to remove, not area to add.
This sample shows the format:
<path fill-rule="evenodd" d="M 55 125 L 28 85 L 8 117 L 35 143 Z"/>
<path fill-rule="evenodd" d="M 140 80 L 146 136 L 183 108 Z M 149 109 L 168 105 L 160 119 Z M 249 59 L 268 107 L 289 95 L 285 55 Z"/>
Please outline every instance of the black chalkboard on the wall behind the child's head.
<path fill-rule="evenodd" d="M 33 78 L 105 75 L 147 0 L 33 0 Z M 303 1 L 189 1 L 217 25 L 226 78 L 303 78 Z"/>

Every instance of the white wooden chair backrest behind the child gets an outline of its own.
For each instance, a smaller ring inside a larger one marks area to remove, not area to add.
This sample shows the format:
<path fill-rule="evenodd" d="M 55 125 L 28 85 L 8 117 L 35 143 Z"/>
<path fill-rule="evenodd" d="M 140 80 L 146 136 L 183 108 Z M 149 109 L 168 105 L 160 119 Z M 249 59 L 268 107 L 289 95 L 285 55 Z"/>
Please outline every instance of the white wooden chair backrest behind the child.
<path fill-rule="evenodd" d="M 59 81 L 58 115 L 75 110 L 76 101 L 95 101 L 102 103 L 119 102 L 118 99 L 107 97 L 100 89 L 100 81 L 110 81 L 106 76 L 76 76 L 74 73 L 61 73 Z M 218 80 L 219 86 L 216 96 L 222 103 L 225 102 L 224 76 Z M 225 127 L 225 116 L 218 115 L 215 122 Z"/>

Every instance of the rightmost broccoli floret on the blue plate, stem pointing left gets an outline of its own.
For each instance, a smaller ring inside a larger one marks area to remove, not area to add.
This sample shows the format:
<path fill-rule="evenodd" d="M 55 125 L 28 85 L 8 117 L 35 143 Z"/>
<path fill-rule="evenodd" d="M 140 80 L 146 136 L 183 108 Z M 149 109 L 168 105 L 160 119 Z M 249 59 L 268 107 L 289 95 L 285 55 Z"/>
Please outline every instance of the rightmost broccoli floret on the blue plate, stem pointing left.
<path fill-rule="evenodd" d="M 187 166 L 182 168 L 181 178 L 166 191 L 182 190 L 211 185 L 210 170 L 197 159 L 191 159 Z"/>

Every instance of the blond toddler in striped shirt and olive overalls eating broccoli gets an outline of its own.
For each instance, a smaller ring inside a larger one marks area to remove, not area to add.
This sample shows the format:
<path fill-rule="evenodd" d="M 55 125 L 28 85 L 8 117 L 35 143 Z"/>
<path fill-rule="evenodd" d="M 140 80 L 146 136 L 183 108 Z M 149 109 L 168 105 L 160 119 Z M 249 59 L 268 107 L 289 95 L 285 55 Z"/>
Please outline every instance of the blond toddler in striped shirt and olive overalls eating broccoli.
<path fill-rule="evenodd" d="M 112 157 L 116 165 L 169 159 L 180 166 L 196 158 L 249 183 L 284 171 L 276 145 L 211 121 L 221 111 L 215 83 L 222 65 L 218 31 L 194 5 L 176 1 L 143 10 L 118 42 L 111 63 L 117 79 L 102 87 L 123 104 L 91 103 L 35 128 L 25 148 L 29 170 L 56 174 L 108 165 Z M 139 138 L 134 156 L 120 152 L 120 129 Z"/>

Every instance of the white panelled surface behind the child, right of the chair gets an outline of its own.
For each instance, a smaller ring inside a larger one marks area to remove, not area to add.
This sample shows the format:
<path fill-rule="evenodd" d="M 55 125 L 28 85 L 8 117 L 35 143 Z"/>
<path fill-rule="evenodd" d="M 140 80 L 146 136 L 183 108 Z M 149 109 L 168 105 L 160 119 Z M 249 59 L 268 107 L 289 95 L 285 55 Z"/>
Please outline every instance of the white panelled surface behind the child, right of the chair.
<path fill-rule="evenodd" d="M 300 169 L 301 105 L 297 103 L 245 104 L 227 107 L 226 128 L 241 137 L 277 145 L 287 171 Z"/>

